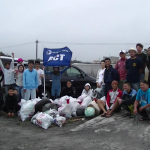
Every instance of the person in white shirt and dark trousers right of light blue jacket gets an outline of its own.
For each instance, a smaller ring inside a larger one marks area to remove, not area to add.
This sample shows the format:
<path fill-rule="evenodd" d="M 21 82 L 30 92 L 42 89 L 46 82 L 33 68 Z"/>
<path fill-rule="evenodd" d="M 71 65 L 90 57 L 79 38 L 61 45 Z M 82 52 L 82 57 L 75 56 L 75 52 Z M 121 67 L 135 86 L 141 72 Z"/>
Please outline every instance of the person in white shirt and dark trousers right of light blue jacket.
<path fill-rule="evenodd" d="M 36 97 L 42 98 L 42 92 L 43 92 L 42 78 L 44 75 L 44 71 L 42 69 L 40 69 L 40 61 L 39 60 L 35 61 L 35 70 L 37 71 L 37 75 L 38 75 L 38 91 L 36 92 Z"/>

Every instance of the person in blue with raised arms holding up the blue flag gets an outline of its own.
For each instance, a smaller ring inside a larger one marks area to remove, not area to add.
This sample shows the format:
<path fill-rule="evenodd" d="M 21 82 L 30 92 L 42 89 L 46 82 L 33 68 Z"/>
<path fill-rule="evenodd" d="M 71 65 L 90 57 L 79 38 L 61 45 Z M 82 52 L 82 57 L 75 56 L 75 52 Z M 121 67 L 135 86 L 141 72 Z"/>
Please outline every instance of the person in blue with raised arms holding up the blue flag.
<path fill-rule="evenodd" d="M 69 68 L 66 67 L 64 70 L 60 71 L 58 66 L 53 67 L 53 72 L 46 71 L 46 74 L 50 74 L 52 78 L 52 89 L 51 95 L 52 99 L 56 99 L 60 96 L 61 92 L 61 75 Z"/>

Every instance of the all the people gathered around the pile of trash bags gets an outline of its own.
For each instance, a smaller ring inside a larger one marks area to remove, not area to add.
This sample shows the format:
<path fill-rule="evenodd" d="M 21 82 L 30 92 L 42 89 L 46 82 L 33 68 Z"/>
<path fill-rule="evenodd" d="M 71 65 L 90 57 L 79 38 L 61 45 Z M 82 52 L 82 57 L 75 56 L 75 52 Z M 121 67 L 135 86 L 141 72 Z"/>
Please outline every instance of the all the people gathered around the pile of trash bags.
<path fill-rule="evenodd" d="M 138 43 L 136 49 L 130 48 L 128 53 L 130 58 L 126 58 L 126 52 L 119 52 L 120 60 L 115 68 L 111 65 L 110 58 L 105 58 L 100 62 L 101 69 L 98 70 L 96 77 L 99 99 L 96 101 L 100 108 L 102 117 L 111 117 L 113 112 L 119 112 L 121 107 L 127 113 L 124 116 L 133 117 L 139 113 L 140 120 L 149 119 L 150 115 L 150 75 L 149 80 L 145 79 L 145 68 L 150 70 L 150 48 L 148 56 L 142 53 L 143 45 Z M 25 68 L 23 59 L 18 59 L 17 67 L 14 66 L 14 54 L 12 53 L 12 62 L 6 62 L 3 66 L 0 60 L 0 67 L 4 74 L 4 84 L 6 96 L 1 109 L 8 116 L 14 116 L 14 113 L 20 109 L 18 102 L 21 98 L 25 100 L 42 98 L 42 78 L 44 72 L 40 69 L 40 61 L 28 61 L 28 68 Z M 71 81 L 67 81 L 66 87 L 61 90 L 61 75 L 70 66 L 60 71 L 58 66 L 53 67 L 53 71 L 45 71 L 52 78 L 51 98 L 56 99 L 59 96 L 71 96 L 76 98 L 76 89 Z M 15 80 L 16 78 L 16 80 Z M 87 83 L 78 97 L 79 100 L 92 101 L 92 89 Z"/>

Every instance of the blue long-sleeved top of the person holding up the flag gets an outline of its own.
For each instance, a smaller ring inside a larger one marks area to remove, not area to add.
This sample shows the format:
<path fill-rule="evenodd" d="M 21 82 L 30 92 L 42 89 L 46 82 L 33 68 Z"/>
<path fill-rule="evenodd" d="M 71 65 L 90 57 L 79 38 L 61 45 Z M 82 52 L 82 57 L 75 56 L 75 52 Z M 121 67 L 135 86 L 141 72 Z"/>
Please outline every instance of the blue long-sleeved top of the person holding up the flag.
<path fill-rule="evenodd" d="M 52 78 L 52 88 L 53 89 L 61 89 L 61 75 L 68 69 L 69 67 L 66 67 L 64 70 L 60 71 L 60 75 L 54 75 L 50 71 L 45 71 L 46 74 L 50 74 Z"/>

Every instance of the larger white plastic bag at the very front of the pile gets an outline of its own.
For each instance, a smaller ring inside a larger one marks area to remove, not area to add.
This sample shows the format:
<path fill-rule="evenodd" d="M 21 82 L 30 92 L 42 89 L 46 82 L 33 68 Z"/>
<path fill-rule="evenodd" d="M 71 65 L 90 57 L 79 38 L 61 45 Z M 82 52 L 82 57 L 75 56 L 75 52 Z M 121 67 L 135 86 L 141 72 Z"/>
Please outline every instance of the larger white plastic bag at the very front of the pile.
<path fill-rule="evenodd" d="M 31 122 L 43 129 L 48 129 L 49 126 L 54 122 L 54 119 L 48 114 L 40 112 L 32 117 Z"/>

